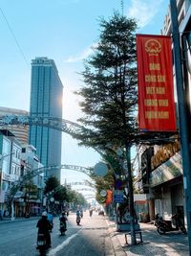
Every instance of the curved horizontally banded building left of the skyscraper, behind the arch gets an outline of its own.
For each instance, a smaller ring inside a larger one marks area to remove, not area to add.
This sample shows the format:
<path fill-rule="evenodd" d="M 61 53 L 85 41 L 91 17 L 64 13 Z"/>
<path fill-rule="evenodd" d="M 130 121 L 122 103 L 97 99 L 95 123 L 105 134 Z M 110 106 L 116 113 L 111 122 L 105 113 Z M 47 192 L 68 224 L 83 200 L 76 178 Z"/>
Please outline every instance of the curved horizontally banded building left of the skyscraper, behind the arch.
<path fill-rule="evenodd" d="M 0 106 L 0 117 L 1 116 L 6 116 L 6 115 L 29 115 L 29 112 L 26 110 L 21 110 L 21 109 L 15 109 L 15 108 L 10 108 L 10 107 L 3 107 Z M 28 143 L 28 132 L 29 132 L 29 127 L 24 127 L 24 126 L 4 126 L 3 128 L 9 129 L 14 136 L 19 140 L 21 144 L 27 144 Z"/>

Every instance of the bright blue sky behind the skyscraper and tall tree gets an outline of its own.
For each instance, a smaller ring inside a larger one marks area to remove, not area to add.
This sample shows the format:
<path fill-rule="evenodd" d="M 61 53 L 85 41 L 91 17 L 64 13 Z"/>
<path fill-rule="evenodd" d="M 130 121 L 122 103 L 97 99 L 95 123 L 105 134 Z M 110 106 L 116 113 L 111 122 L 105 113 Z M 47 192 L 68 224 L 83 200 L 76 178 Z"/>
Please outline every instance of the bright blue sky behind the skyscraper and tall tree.
<path fill-rule="evenodd" d="M 160 34 L 169 1 L 123 3 L 123 14 L 138 20 L 139 34 Z M 63 118 L 75 122 L 81 116 L 73 93 L 82 84 L 77 73 L 98 38 L 97 19 L 108 19 L 114 10 L 122 12 L 121 1 L 1 0 L 0 9 L 0 105 L 29 110 L 31 60 L 53 58 L 64 85 Z M 99 161 L 95 151 L 78 148 L 67 134 L 62 151 L 63 164 L 88 167 Z M 64 177 L 69 178 L 66 172 Z"/>

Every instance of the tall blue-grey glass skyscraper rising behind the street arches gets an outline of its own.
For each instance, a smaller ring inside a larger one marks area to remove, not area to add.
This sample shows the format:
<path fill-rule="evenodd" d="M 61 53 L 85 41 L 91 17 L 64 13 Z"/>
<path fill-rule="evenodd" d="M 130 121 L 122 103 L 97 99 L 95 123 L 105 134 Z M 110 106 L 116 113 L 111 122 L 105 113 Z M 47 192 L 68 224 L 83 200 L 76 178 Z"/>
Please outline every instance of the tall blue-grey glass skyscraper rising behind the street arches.
<path fill-rule="evenodd" d="M 63 85 L 53 59 L 32 59 L 31 104 L 32 117 L 62 118 Z M 44 166 L 61 164 L 61 131 L 32 126 L 29 143 L 36 148 Z M 60 170 L 47 172 L 60 179 Z"/>

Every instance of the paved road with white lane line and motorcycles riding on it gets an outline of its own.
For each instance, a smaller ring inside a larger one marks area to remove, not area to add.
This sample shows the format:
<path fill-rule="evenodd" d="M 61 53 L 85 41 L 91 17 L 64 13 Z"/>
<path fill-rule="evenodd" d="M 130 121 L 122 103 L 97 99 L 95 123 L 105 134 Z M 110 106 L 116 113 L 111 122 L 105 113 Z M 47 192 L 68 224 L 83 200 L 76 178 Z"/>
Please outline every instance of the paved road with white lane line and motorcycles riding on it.
<path fill-rule="evenodd" d="M 58 218 L 54 219 L 52 248 L 49 256 L 101 256 L 114 255 L 108 236 L 108 227 L 102 216 L 89 217 L 84 214 L 79 226 L 75 223 L 75 215 L 71 214 L 66 236 L 60 236 Z M 13 221 L 0 226 L 1 256 L 36 256 L 35 227 L 37 220 Z"/>

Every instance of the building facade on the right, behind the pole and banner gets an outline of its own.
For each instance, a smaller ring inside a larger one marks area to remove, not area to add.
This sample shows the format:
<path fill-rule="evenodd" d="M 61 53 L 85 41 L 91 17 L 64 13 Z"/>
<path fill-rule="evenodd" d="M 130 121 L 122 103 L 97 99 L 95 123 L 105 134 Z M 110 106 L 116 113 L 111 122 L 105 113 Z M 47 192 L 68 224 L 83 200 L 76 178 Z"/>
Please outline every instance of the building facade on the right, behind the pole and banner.
<path fill-rule="evenodd" d="M 180 25 L 180 47 L 182 70 L 186 95 L 187 120 L 191 131 L 191 2 L 178 0 L 178 20 Z M 170 9 L 164 19 L 162 35 L 171 35 Z M 178 114 L 179 118 L 179 114 Z M 190 132 L 191 142 L 191 132 Z M 173 139 L 168 144 L 147 146 L 139 154 L 138 190 L 148 195 L 148 214 L 154 220 L 159 214 L 170 220 L 177 213 L 186 224 L 183 172 L 181 165 L 180 141 Z"/>

